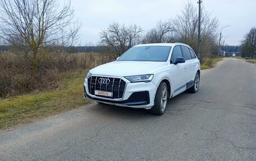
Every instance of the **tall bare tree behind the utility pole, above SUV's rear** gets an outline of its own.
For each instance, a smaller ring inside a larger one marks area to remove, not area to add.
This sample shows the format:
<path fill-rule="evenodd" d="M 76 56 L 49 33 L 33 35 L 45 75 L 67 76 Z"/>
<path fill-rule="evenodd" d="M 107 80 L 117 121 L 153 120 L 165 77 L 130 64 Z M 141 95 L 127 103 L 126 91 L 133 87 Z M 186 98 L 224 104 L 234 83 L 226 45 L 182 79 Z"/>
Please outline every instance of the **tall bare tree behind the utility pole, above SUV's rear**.
<path fill-rule="evenodd" d="M 179 37 L 178 41 L 190 45 L 195 51 L 198 43 L 198 12 L 193 3 L 188 1 L 180 15 L 174 20 L 175 31 Z M 218 20 L 212 18 L 202 8 L 201 17 L 201 53 L 202 58 L 206 55 L 212 56 L 217 45 Z"/>

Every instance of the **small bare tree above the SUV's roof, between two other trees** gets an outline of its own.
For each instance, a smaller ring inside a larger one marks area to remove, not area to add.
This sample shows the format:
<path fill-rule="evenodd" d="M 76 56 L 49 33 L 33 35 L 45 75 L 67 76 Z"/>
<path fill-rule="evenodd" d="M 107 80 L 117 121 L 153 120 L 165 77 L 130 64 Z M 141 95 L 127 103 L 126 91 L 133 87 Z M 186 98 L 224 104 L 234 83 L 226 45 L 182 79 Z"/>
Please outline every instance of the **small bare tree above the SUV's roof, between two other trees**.
<path fill-rule="evenodd" d="M 173 43 L 174 30 L 172 20 L 159 21 L 156 27 L 145 34 L 142 43 Z"/>

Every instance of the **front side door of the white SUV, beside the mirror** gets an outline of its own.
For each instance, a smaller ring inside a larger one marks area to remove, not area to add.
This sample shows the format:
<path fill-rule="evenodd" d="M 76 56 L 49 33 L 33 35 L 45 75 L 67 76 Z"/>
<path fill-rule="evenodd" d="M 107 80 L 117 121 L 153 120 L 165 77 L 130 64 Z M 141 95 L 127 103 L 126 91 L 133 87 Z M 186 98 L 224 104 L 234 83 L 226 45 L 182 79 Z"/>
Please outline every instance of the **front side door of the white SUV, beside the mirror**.
<path fill-rule="evenodd" d="M 177 57 L 182 57 L 182 52 L 180 45 L 176 45 L 172 50 L 172 56 L 171 56 L 171 66 L 173 68 L 173 96 L 181 93 L 184 91 L 184 87 L 186 87 L 186 69 L 185 69 L 185 63 L 178 63 L 174 65 Z"/>

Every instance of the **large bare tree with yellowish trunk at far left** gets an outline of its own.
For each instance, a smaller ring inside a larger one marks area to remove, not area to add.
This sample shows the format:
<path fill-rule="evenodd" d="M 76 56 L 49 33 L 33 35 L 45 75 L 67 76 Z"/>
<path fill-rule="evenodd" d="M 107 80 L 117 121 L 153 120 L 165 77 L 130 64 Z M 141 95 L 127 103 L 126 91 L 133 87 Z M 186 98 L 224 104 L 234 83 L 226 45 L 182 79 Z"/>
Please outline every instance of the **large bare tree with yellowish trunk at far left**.
<path fill-rule="evenodd" d="M 78 38 L 80 25 L 72 22 L 70 2 L 60 7 L 56 0 L 0 0 L 0 15 L 0 36 L 24 51 L 34 77 L 47 49 Z"/>

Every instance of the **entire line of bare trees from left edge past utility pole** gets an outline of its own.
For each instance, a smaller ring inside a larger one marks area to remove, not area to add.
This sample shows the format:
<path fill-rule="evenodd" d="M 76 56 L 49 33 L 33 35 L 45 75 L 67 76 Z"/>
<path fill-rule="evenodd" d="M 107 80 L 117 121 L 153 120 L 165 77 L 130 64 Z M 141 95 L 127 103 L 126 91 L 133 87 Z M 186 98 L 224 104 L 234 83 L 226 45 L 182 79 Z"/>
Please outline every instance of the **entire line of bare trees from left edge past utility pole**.
<path fill-rule="evenodd" d="M 1 47 L 5 50 L 8 46 L 13 53 L 21 54 L 29 62 L 33 77 L 52 53 L 94 50 L 116 59 L 136 44 L 174 42 L 188 44 L 196 52 L 197 10 L 188 1 L 175 19 L 158 21 L 148 31 L 136 24 L 112 22 L 100 31 L 98 45 L 74 47 L 80 39 L 81 24 L 74 20 L 71 2 L 61 7 L 57 0 L 0 0 L 0 40 L 7 44 Z M 201 22 L 201 57 L 214 57 L 218 50 L 218 20 L 203 8 Z"/>

